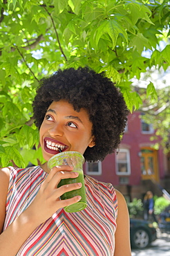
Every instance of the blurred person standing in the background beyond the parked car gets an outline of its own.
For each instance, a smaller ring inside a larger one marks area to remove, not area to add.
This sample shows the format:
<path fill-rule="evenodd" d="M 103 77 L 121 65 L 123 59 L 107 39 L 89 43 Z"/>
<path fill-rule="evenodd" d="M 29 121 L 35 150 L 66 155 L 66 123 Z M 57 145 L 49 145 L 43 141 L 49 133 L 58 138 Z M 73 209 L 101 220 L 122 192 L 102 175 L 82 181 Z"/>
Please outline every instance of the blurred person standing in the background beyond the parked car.
<path fill-rule="evenodd" d="M 144 220 L 158 222 L 155 214 L 154 214 L 154 200 L 153 200 L 153 193 L 151 191 L 147 191 L 144 196 Z"/>

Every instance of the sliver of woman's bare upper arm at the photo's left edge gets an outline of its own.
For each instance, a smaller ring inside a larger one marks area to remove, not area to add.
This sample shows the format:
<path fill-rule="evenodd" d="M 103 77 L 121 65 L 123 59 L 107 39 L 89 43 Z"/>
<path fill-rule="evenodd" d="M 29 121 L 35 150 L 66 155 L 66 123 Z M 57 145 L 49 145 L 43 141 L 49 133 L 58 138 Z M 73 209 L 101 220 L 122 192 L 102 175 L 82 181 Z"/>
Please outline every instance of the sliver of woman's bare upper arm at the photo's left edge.
<path fill-rule="evenodd" d="M 0 233 L 6 216 L 6 196 L 10 179 L 10 169 L 8 167 L 0 169 Z"/>

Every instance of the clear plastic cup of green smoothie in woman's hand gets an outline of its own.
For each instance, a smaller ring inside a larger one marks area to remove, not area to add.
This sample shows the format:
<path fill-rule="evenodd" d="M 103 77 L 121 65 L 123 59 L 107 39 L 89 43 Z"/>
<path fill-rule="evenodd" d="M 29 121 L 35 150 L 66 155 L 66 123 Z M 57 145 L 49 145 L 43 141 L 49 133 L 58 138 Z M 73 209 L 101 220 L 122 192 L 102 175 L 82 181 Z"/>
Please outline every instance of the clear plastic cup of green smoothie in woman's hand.
<path fill-rule="evenodd" d="M 86 189 L 84 185 L 84 172 L 83 172 L 83 163 L 84 163 L 84 156 L 79 152 L 75 151 L 67 151 L 61 152 L 52 156 L 52 158 L 48 161 L 48 167 L 52 169 L 56 165 L 69 165 L 72 166 L 73 172 L 78 172 L 79 176 L 75 179 L 62 179 L 59 184 L 58 188 L 62 185 L 70 184 L 70 183 L 82 183 L 82 188 L 78 190 L 72 190 L 62 194 L 61 199 L 70 199 L 73 196 L 82 196 L 82 199 L 77 202 L 73 203 L 72 205 L 68 205 L 64 208 L 66 212 L 79 212 L 80 210 L 84 210 L 87 206 L 86 203 Z"/>

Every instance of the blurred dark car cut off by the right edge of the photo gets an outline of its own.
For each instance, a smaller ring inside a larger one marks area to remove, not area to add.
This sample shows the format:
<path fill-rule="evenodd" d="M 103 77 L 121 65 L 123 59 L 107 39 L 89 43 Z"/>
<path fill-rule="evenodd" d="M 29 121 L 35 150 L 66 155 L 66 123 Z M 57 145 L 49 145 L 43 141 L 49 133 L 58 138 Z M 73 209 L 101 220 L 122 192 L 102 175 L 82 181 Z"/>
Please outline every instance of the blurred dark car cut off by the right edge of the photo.
<path fill-rule="evenodd" d="M 161 232 L 170 234 L 170 205 L 160 213 L 158 227 Z"/>

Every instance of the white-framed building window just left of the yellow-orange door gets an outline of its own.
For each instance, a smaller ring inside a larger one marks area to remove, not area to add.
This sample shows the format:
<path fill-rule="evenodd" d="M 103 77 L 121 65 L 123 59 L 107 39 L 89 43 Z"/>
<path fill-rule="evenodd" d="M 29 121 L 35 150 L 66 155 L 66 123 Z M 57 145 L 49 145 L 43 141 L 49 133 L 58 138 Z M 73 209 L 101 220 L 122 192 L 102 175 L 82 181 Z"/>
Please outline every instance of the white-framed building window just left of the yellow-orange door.
<path fill-rule="evenodd" d="M 116 173 L 118 175 L 131 174 L 130 155 L 128 149 L 120 149 L 115 156 Z"/>

